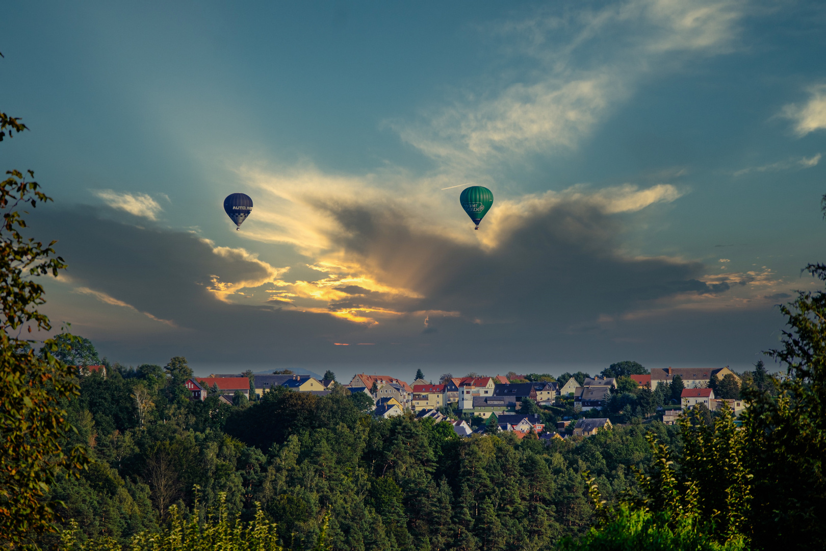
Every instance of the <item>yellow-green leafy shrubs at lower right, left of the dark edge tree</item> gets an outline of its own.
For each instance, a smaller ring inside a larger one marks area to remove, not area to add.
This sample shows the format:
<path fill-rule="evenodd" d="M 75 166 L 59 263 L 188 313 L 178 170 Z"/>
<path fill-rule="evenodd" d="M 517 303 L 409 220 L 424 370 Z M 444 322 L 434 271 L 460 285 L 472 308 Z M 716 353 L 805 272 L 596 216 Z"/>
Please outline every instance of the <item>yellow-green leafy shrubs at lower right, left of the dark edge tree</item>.
<path fill-rule="evenodd" d="M 680 420 L 683 452 L 648 435 L 654 461 L 638 472 L 638 493 L 626 492 L 616 506 L 601 499 L 595 479 L 591 497 L 598 519 L 578 542 L 562 549 L 747 549 L 751 476 L 743 465 L 743 434 L 729 410 L 707 425 L 700 411 Z"/>

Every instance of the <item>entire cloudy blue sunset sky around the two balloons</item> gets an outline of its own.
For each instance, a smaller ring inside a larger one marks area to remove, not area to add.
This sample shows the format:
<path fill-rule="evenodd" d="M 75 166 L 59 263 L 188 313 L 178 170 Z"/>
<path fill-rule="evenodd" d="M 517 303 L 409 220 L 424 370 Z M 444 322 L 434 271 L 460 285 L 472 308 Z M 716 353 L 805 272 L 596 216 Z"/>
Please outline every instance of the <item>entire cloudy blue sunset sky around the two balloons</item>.
<path fill-rule="evenodd" d="M 824 261 L 826 4 L 5 2 L 55 330 L 412 379 L 745 369 Z M 458 204 L 495 197 L 479 230 Z M 240 231 L 222 209 L 244 192 Z M 410 372 L 410 373 L 408 373 Z"/>

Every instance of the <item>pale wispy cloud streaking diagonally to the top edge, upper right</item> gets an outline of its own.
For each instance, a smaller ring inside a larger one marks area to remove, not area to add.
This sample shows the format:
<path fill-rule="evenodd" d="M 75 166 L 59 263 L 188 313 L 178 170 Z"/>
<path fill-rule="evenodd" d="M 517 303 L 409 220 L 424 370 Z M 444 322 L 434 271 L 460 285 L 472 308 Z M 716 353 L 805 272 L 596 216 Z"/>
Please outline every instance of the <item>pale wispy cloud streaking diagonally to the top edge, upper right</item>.
<path fill-rule="evenodd" d="M 388 124 L 440 164 L 468 173 L 525 154 L 569 150 L 644 74 L 673 70 L 675 55 L 731 50 L 742 12 L 742 2 L 630 0 L 508 21 L 487 30 L 515 37 L 520 45 L 510 53 L 538 66 L 520 74 L 513 69 L 518 64 L 509 64 L 498 80 L 517 82 L 494 93 L 464 93 L 415 124 Z"/>

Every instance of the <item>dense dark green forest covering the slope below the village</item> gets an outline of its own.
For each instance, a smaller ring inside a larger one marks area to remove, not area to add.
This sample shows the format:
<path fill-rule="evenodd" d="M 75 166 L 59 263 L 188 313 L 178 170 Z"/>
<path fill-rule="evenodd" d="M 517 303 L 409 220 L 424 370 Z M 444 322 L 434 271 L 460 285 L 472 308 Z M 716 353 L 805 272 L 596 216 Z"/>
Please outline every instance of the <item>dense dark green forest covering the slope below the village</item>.
<path fill-rule="evenodd" d="M 536 435 L 460 439 L 445 422 L 369 416 L 340 386 L 325 397 L 279 387 L 230 406 L 190 400 L 190 376 L 173 358 L 81 378 L 67 444 L 94 463 L 53 487 L 64 522 L 126 545 L 171 506 L 214 506 L 223 493 L 230 512 L 249 520 L 258 502 L 282 534 L 308 544 L 329 514 L 332 549 L 552 549 L 593 523 L 582 473 L 615 496 L 634 486 L 632 467 L 650 462 L 648 433 L 680 445 L 678 427 L 639 418 L 549 446 Z"/>

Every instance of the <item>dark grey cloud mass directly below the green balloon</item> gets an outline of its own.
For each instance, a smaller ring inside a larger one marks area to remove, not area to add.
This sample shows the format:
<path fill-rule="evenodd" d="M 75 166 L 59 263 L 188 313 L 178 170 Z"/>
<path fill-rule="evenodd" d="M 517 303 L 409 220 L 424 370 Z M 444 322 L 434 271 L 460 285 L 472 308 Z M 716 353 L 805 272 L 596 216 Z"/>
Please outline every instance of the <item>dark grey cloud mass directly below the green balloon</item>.
<path fill-rule="evenodd" d="M 507 220 L 496 228 L 503 239 L 487 251 L 417 231 L 387 206 L 328 209 L 344 228 L 330 239 L 379 280 L 425 297 L 418 310 L 567 327 L 677 293 L 729 290 L 700 281 L 697 262 L 619 254 L 622 223 L 587 202 Z"/>

